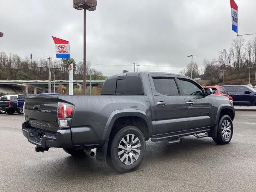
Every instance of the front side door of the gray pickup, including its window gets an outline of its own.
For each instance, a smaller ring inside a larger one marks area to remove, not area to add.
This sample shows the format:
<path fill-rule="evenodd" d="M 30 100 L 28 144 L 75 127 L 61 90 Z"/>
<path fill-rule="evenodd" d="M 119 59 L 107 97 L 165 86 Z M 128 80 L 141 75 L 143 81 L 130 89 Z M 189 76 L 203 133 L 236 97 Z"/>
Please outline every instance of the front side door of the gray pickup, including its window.
<path fill-rule="evenodd" d="M 214 121 L 214 108 L 210 96 L 204 96 L 202 87 L 188 78 L 178 78 L 187 107 L 187 129 L 205 128 Z"/>

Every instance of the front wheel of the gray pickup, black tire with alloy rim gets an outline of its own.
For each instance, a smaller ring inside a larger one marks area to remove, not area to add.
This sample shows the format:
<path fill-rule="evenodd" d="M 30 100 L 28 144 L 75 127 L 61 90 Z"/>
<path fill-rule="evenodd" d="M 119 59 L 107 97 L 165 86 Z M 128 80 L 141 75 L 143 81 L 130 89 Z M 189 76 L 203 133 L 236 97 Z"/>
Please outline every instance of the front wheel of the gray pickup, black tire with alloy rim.
<path fill-rule="evenodd" d="M 228 122 L 228 123 L 226 123 L 226 122 Z M 225 126 L 225 124 L 230 125 L 230 128 L 229 128 L 229 126 Z M 224 136 L 222 134 L 222 128 L 223 127 L 224 127 L 224 130 L 223 130 L 224 131 L 224 133 L 223 133 Z M 225 132 L 227 133 L 226 136 L 225 136 Z M 224 144 L 228 144 L 231 141 L 232 136 L 233 136 L 232 120 L 231 120 L 230 116 L 224 115 L 224 116 L 222 116 L 222 118 L 220 119 L 220 122 L 218 124 L 217 137 L 212 138 L 212 140 L 214 140 L 214 142 L 216 142 L 217 144 L 224 145 Z"/>

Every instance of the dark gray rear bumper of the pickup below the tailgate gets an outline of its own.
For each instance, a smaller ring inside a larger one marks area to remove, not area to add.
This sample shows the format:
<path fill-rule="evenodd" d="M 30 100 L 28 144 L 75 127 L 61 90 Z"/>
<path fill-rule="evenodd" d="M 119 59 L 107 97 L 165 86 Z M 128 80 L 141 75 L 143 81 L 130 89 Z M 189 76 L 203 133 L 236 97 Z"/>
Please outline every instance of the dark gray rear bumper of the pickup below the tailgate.
<path fill-rule="evenodd" d="M 28 142 L 42 148 L 72 148 L 71 130 L 58 130 L 56 133 L 45 132 L 22 123 L 22 133 Z"/>

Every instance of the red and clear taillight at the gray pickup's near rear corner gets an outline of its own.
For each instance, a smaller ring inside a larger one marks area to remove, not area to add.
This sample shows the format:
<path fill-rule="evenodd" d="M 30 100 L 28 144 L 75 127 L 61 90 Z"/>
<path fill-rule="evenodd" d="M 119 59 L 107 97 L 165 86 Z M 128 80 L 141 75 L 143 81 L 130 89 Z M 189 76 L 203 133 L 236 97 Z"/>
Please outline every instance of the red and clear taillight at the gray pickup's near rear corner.
<path fill-rule="evenodd" d="M 73 105 L 58 102 L 58 123 L 60 127 L 70 127 L 73 110 Z"/>

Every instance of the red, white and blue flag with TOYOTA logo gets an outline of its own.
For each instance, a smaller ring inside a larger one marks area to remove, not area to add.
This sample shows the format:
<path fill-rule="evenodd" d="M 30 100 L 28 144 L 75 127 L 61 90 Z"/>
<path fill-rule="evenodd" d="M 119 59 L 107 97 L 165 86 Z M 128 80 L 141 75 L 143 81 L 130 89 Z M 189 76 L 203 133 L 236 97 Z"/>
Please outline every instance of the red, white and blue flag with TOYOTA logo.
<path fill-rule="evenodd" d="M 55 43 L 56 57 L 57 58 L 70 58 L 69 42 L 60 38 L 53 37 Z"/>

